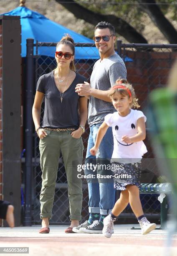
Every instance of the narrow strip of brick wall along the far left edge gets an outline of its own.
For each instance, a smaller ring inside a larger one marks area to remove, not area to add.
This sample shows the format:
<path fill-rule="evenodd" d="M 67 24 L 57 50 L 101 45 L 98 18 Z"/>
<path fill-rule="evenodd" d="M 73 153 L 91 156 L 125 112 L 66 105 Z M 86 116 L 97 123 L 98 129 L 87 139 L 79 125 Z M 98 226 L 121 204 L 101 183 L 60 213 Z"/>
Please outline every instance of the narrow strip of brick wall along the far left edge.
<path fill-rule="evenodd" d="M 3 200 L 3 164 L 2 164 L 2 25 L 0 24 L 0 200 Z M 0 226 L 2 221 L 0 220 Z"/>

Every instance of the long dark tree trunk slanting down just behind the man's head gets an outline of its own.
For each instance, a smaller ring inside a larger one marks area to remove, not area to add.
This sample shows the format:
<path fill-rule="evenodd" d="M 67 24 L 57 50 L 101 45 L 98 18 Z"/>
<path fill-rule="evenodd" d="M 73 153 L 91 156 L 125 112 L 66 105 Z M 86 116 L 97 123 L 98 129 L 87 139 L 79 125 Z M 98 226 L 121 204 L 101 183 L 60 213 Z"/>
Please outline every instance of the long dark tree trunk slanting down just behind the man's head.
<path fill-rule="evenodd" d="M 116 17 L 115 15 L 102 15 L 100 13 L 94 13 L 91 10 L 79 5 L 73 0 L 64 0 L 61 2 L 60 0 L 56 0 L 56 2 L 60 3 L 65 7 L 68 11 L 73 13 L 73 15 L 78 18 L 85 20 L 86 22 L 93 24 L 96 26 L 101 20 L 106 20 L 111 23 L 115 31 L 119 33 L 119 35 L 123 36 L 127 41 L 134 44 L 147 44 L 147 40 L 136 31 L 129 23 L 125 20 Z"/>

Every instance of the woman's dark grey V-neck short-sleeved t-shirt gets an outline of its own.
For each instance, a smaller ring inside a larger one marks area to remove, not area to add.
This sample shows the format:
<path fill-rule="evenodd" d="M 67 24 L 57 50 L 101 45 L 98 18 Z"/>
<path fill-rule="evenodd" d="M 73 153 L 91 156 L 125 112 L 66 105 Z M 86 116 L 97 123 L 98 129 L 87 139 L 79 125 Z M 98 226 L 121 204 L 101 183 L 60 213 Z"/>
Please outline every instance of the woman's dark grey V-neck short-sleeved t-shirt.
<path fill-rule="evenodd" d="M 45 95 L 45 109 L 43 127 L 73 128 L 79 126 L 78 93 L 75 92 L 76 84 L 83 84 L 85 77 L 76 74 L 75 79 L 68 89 L 61 95 L 56 87 L 53 71 L 42 75 L 38 79 L 36 90 Z"/>

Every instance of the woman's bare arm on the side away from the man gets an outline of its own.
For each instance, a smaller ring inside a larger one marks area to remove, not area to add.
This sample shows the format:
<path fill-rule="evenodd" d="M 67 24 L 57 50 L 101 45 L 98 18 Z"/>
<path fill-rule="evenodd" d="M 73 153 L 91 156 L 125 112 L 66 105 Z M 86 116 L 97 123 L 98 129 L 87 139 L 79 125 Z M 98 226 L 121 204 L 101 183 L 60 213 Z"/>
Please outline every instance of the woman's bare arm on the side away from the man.
<path fill-rule="evenodd" d="M 40 127 L 40 109 L 41 109 L 41 105 L 42 105 L 42 102 L 43 102 L 43 98 L 44 98 L 43 92 L 36 91 L 35 98 L 34 98 L 33 109 L 32 109 L 35 131 Z M 43 137 L 43 136 L 41 136 L 40 133 L 44 133 L 45 135 L 47 135 L 47 132 L 43 129 L 40 129 L 39 132 L 38 132 L 38 136 Z"/>

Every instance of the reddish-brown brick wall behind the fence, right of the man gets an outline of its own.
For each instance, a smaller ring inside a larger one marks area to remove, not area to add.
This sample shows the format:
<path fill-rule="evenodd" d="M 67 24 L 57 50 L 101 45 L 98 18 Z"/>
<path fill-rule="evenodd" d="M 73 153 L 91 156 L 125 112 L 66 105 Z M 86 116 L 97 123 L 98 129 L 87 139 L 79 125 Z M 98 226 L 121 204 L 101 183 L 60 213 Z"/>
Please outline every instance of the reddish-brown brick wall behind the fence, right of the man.
<path fill-rule="evenodd" d="M 140 110 L 144 111 L 148 105 L 149 92 L 166 86 L 169 71 L 177 58 L 177 52 L 163 52 L 163 49 L 159 52 L 126 51 L 125 55 L 133 60 L 125 63 L 127 80 L 135 89 L 141 106 Z M 154 158 L 148 133 L 145 144 L 148 153 L 144 157 Z"/>

